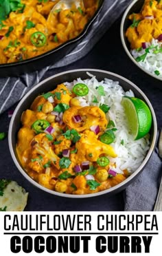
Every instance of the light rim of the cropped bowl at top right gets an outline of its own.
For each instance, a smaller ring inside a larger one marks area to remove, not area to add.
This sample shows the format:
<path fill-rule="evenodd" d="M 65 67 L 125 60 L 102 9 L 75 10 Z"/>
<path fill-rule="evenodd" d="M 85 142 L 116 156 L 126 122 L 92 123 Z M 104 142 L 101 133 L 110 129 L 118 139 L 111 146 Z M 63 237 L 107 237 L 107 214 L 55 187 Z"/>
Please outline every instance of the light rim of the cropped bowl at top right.
<path fill-rule="evenodd" d="M 132 54 L 130 54 L 130 51 L 128 50 L 128 47 L 126 46 L 125 40 L 124 40 L 124 23 L 126 21 L 126 19 L 128 19 L 128 12 L 130 11 L 130 9 L 132 8 L 132 6 L 135 6 L 135 3 L 137 3 L 139 0 L 133 0 L 132 3 L 130 3 L 130 5 L 128 6 L 128 8 L 126 8 L 123 17 L 122 17 L 122 21 L 120 24 L 120 38 L 122 41 L 122 45 L 124 47 L 124 50 L 126 52 L 126 54 L 128 55 L 128 57 L 130 58 L 130 60 L 135 63 L 135 65 L 137 65 L 137 67 L 139 67 L 143 72 L 145 72 L 146 74 L 148 74 L 149 76 L 152 76 L 153 78 L 158 79 L 159 81 L 162 81 L 162 77 L 156 76 L 155 74 L 152 74 L 151 72 L 149 72 L 148 70 L 146 70 L 144 67 L 141 67 L 137 61 L 135 61 L 135 58 L 133 58 Z M 144 1 L 144 0 L 143 0 Z"/>

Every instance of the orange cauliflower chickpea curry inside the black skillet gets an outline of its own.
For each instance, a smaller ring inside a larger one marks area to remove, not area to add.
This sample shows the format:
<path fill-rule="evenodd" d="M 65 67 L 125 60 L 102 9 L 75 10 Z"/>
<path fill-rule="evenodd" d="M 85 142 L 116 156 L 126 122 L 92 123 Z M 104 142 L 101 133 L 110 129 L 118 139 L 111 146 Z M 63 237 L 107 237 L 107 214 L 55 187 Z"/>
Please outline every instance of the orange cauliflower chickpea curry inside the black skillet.
<path fill-rule="evenodd" d="M 56 1 L 0 1 L 0 64 L 23 61 L 48 52 L 82 32 L 98 7 L 97 0 L 83 8 L 55 10 Z"/>

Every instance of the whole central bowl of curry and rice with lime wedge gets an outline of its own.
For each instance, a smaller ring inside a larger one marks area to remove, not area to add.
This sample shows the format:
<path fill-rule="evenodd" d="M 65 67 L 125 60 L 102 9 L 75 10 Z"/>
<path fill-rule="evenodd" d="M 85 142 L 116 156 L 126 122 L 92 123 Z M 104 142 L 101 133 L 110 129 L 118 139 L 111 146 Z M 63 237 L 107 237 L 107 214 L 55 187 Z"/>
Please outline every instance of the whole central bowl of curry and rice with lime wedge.
<path fill-rule="evenodd" d="M 9 128 L 12 159 L 48 193 L 88 198 L 125 189 L 146 166 L 157 137 L 148 98 L 126 78 L 71 70 L 30 90 Z"/>

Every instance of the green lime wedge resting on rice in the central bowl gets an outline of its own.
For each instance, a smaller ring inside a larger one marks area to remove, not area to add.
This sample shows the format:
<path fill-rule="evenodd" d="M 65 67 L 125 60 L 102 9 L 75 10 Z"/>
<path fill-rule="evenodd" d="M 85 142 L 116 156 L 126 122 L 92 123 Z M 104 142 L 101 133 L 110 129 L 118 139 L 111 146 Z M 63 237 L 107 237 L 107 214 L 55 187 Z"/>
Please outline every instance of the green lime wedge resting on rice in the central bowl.
<path fill-rule="evenodd" d="M 128 120 L 128 128 L 134 140 L 146 136 L 152 125 L 152 114 L 148 105 L 139 98 L 124 96 L 122 106 Z"/>

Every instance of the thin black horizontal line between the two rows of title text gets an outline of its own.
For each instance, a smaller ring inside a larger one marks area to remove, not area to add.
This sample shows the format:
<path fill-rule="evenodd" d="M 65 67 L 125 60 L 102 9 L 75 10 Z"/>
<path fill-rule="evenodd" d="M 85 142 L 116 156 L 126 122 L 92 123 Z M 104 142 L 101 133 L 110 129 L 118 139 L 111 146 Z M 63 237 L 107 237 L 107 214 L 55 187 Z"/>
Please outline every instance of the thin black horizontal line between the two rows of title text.
<path fill-rule="evenodd" d="M 3 235 L 159 235 L 159 233 L 3 233 Z"/>

